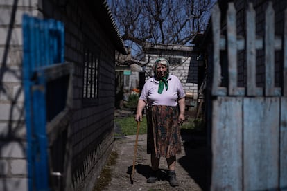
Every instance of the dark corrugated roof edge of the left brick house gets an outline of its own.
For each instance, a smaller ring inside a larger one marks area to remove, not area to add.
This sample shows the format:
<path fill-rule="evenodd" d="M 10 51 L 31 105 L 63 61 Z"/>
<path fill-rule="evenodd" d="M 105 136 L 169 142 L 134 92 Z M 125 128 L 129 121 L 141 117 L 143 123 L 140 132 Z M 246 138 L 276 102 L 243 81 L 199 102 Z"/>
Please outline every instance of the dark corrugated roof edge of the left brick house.
<path fill-rule="evenodd" d="M 112 42 L 114 42 L 116 50 L 124 55 L 128 54 L 128 51 L 124 46 L 123 39 L 119 33 L 119 29 L 114 21 L 114 17 L 112 17 L 112 12 L 107 1 L 97 0 L 90 2 L 93 3 L 94 8 L 96 8 L 94 14 L 97 18 L 101 18 L 99 19 L 99 22 L 103 26 L 103 30 L 105 30 L 105 33 L 107 33 L 107 35 L 110 35 L 110 37 L 112 38 Z"/>

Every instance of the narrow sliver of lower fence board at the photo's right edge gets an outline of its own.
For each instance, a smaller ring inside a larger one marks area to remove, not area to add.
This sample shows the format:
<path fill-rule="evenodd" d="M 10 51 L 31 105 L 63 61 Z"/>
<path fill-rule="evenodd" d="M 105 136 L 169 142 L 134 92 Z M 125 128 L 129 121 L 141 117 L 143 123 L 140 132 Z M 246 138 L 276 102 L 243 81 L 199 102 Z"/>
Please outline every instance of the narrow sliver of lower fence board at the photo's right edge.
<path fill-rule="evenodd" d="M 287 190 L 287 98 L 281 98 L 280 121 L 280 188 Z"/>

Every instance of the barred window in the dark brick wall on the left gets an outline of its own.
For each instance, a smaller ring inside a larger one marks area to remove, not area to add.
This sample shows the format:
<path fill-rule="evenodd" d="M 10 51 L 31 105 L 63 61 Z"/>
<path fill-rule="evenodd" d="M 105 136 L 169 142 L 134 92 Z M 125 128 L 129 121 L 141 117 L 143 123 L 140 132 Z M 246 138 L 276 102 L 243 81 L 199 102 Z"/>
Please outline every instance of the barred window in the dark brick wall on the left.
<path fill-rule="evenodd" d="M 98 62 L 99 58 L 87 48 L 84 52 L 83 93 L 85 100 L 98 98 Z"/>

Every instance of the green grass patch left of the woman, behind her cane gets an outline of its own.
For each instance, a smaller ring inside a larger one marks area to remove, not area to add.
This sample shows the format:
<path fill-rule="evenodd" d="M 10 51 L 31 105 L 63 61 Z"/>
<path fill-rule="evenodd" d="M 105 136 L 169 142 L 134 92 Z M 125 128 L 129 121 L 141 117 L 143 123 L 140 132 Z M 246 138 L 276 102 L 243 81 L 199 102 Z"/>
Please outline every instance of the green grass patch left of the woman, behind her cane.
<path fill-rule="evenodd" d="M 125 118 L 115 118 L 116 125 L 121 127 L 121 132 L 125 135 L 135 135 L 137 134 L 137 122 L 134 120 L 134 116 L 128 116 Z M 143 117 L 139 127 L 139 134 L 146 134 L 146 117 Z"/>

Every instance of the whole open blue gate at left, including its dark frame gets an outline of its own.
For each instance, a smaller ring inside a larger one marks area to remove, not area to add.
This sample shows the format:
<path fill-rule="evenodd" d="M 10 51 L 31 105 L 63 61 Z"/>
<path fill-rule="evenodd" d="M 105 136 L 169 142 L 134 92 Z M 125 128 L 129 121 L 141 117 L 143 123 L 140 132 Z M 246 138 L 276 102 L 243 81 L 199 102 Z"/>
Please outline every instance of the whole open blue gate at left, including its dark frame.
<path fill-rule="evenodd" d="M 57 131 L 55 127 L 59 126 L 60 113 L 67 116 L 64 111 L 71 104 L 67 98 L 72 67 L 64 63 L 64 25 L 53 19 L 24 15 L 22 28 L 28 187 L 54 190 L 53 173 L 62 176 L 64 171 L 64 156 L 59 158 L 56 153 L 59 147 L 62 149 L 58 152 L 62 153 L 65 148 L 68 122 L 61 124 L 62 129 L 57 127 Z M 57 122 L 53 121 L 55 118 Z M 55 144 L 59 144 L 58 148 Z M 61 167 L 56 167 L 59 164 Z"/>

